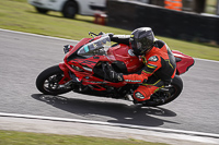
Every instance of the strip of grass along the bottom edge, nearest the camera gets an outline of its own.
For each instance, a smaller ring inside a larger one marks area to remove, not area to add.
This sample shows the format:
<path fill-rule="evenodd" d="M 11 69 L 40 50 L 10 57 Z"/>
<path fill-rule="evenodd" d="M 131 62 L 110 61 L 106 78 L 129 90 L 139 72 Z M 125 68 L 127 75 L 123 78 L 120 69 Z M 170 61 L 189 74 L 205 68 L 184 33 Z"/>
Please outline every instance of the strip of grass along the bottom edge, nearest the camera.
<path fill-rule="evenodd" d="M 166 145 L 139 140 L 111 140 L 79 135 L 56 135 L 0 131 L 0 145 Z"/>

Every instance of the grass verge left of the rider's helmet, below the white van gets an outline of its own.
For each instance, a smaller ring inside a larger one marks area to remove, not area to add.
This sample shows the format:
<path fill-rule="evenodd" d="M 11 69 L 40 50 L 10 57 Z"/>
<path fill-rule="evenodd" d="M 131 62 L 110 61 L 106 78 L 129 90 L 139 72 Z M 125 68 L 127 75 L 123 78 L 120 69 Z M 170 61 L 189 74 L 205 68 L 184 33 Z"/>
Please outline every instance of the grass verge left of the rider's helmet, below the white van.
<path fill-rule="evenodd" d="M 23 0 L 22 0 L 23 1 Z M 49 12 L 48 15 L 39 14 L 26 2 L 15 0 L 0 1 L 0 27 L 49 35 L 70 39 L 88 37 L 89 32 L 114 32 L 129 34 L 113 27 L 93 24 L 92 16 L 77 15 L 76 20 L 62 17 L 59 12 Z"/>

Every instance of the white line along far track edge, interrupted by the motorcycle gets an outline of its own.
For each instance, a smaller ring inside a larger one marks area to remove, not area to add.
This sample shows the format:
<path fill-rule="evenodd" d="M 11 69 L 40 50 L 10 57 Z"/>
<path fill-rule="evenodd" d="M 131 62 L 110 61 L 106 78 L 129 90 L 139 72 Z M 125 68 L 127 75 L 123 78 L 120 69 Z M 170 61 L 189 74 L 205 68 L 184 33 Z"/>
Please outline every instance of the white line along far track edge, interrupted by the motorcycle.
<path fill-rule="evenodd" d="M 32 34 L 32 33 L 23 33 L 23 32 L 16 32 L 16 31 L 3 29 L 3 28 L 0 28 L 0 31 L 1 32 L 8 32 L 8 33 L 16 33 L 16 34 L 30 35 L 30 36 L 36 36 L 36 37 L 42 37 L 42 38 L 50 38 L 50 39 L 67 40 L 67 41 L 71 40 L 73 43 L 78 43 L 78 40 L 66 39 L 66 38 L 58 38 L 58 37 L 51 37 L 51 36 L 45 36 L 45 35 Z M 199 59 L 199 58 L 194 58 L 194 59 L 201 60 L 201 61 L 210 61 L 210 62 L 219 63 L 219 61 L 216 61 L 216 60 Z"/>

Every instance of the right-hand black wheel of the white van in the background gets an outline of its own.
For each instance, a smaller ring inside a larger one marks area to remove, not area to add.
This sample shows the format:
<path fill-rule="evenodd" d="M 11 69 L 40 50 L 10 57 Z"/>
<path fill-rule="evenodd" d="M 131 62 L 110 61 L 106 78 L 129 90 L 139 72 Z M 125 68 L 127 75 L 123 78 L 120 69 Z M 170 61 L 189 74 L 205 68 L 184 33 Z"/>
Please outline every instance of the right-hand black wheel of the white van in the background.
<path fill-rule="evenodd" d="M 65 17 L 74 19 L 78 13 L 78 5 L 74 1 L 67 1 L 62 9 L 62 14 Z"/>

